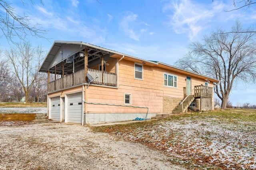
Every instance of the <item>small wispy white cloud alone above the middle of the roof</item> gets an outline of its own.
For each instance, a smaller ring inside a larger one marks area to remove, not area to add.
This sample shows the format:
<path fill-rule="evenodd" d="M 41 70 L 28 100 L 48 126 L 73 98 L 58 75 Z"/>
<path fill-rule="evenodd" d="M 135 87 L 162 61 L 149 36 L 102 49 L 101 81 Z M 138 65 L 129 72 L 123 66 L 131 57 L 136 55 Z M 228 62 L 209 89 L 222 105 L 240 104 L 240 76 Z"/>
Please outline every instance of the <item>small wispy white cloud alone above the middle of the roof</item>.
<path fill-rule="evenodd" d="M 140 36 L 147 32 L 145 26 L 149 26 L 147 23 L 137 19 L 138 15 L 129 12 L 127 16 L 122 19 L 120 27 L 126 32 L 130 38 L 139 41 Z"/>

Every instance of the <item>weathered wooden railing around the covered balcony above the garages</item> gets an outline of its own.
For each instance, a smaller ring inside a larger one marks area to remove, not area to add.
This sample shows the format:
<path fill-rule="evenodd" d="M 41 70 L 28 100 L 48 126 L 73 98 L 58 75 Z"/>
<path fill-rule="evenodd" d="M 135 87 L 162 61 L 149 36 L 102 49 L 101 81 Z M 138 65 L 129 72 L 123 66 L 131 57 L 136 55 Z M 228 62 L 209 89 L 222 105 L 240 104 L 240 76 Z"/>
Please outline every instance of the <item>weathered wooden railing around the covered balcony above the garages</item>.
<path fill-rule="evenodd" d="M 62 78 L 57 79 L 56 81 L 52 81 L 48 83 L 48 92 L 54 92 L 56 90 L 61 90 L 63 88 L 68 88 L 72 86 L 76 86 L 78 84 L 84 83 L 84 69 L 74 72 L 72 74 L 66 75 Z M 100 84 L 105 86 L 116 86 L 116 73 L 112 72 L 103 72 L 103 83 L 102 83 L 102 71 L 94 70 L 88 68 L 88 73 L 96 78 L 91 84 Z"/>

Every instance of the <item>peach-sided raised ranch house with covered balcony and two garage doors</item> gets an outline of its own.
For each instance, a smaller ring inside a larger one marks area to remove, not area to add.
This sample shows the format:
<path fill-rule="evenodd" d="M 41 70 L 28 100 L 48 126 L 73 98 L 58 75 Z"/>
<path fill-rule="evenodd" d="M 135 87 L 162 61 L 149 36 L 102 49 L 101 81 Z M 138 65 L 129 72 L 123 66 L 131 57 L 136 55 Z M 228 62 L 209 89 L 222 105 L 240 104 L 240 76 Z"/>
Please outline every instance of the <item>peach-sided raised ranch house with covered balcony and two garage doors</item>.
<path fill-rule="evenodd" d="M 55 41 L 39 71 L 48 72 L 49 119 L 82 125 L 213 109 L 219 82 L 80 41 Z"/>

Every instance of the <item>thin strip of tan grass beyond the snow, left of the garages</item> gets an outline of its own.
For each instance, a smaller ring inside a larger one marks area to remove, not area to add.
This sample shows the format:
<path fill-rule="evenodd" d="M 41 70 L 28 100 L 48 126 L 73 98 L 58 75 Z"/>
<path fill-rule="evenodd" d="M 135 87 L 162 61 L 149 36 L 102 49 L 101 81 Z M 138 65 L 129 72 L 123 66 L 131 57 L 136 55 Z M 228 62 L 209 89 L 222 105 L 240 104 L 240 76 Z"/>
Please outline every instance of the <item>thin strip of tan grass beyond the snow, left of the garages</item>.
<path fill-rule="evenodd" d="M 0 107 L 47 107 L 46 103 L 0 102 Z"/>

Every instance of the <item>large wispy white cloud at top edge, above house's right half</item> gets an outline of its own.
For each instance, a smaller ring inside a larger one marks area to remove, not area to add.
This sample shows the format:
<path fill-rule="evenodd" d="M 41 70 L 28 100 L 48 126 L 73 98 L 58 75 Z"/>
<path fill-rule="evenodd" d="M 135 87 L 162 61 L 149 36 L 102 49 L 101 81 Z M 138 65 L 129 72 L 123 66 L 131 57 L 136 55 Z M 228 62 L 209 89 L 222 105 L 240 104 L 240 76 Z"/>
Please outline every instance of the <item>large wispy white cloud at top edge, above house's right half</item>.
<path fill-rule="evenodd" d="M 163 8 L 163 12 L 173 12 L 172 15 L 167 15 L 169 18 L 168 25 L 178 34 L 188 33 L 190 40 L 206 29 L 207 23 L 222 10 L 223 5 L 220 2 L 206 6 L 190 0 L 170 2 Z"/>

